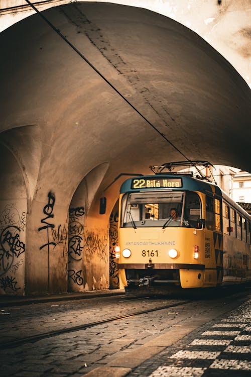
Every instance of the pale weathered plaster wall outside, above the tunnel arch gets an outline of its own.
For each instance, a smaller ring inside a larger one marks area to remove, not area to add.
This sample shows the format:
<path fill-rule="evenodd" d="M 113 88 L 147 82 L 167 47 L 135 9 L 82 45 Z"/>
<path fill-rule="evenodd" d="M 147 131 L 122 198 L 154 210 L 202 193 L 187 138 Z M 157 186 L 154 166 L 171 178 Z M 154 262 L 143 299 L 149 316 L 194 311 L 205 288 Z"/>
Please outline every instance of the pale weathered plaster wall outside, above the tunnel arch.
<path fill-rule="evenodd" d="M 82 2 L 81 0 L 74 1 Z M 91 0 L 85 0 L 91 2 Z M 99 3 L 114 3 L 146 8 L 167 16 L 204 38 L 219 51 L 251 86 L 251 42 L 249 0 L 98 0 Z M 41 3 L 41 4 L 39 4 Z M 44 11 L 51 7 L 72 3 L 71 0 L 38 0 L 36 7 Z M 0 30 L 34 14 L 25 0 L 0 0 Z"/>

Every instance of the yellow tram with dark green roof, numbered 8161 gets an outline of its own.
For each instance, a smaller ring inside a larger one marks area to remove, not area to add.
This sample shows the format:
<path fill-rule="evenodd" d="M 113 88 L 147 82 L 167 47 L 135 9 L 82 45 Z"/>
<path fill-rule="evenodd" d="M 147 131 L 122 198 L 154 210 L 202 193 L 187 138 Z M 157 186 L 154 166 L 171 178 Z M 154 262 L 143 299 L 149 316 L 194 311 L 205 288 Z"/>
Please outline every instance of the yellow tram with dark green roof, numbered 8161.
<path fill-rule="evenodd" d="M 121 285 L 163 293 L 249 281 L 250 224 L 216 184 L 192 173 L 127 179 L 119 196 Z"/>

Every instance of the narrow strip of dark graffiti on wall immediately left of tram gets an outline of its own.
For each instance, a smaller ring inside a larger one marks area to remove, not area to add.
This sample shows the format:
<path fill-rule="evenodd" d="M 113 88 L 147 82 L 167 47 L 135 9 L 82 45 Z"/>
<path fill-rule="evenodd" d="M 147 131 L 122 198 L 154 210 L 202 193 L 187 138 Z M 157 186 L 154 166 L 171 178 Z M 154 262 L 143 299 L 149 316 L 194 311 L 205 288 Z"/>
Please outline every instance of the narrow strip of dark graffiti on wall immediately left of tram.
<path fill-rule="evenodd" d="M 118 269 L 115 258 L 115 246 L 118 241 L 117 234 L 118 224 L 118 211 L 112 212 L 110 216 L 110 229 L 109 229 L 109 280 L 110 289 L 119 287 Z"/>

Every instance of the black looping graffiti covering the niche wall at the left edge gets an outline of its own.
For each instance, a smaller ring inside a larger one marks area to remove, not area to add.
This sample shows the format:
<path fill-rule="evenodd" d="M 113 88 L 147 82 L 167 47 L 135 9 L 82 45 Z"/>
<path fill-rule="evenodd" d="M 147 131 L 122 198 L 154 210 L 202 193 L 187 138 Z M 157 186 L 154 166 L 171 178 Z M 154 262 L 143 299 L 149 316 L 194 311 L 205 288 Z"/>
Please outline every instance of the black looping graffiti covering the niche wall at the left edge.
<path fill-rule="evenodd" d="M 20 234 L 25 231 L 25 225 L 26 213 L 20 213 L 16 203 L 7 204 L 0 213 L 0 276 L 5 275 L 11 268 L 16 272 L 24 263 L 21 255 L 25 252 L 25 243 L 20 240 Z M 15 272 L 12 271 L 12 273 Z M 3 279 L 1 280 L 2 289 L 5 290 L 8 287 L 13 287 L 13 291 L 20 289 L 17 288 L 17 284 L 14 284 L 12 276 L 6 276 Z"/>

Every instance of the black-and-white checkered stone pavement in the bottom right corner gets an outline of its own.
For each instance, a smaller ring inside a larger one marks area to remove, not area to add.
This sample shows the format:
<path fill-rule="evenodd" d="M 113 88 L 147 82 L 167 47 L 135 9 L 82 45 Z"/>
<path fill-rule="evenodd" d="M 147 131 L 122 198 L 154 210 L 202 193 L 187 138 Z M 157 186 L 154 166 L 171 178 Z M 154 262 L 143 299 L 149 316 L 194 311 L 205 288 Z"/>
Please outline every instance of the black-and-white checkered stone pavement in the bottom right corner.
<path fill-rule="evenodd" d="M 247 377 L 251 371 L 251 300 L 189 333 L 129 377 Z"/>

